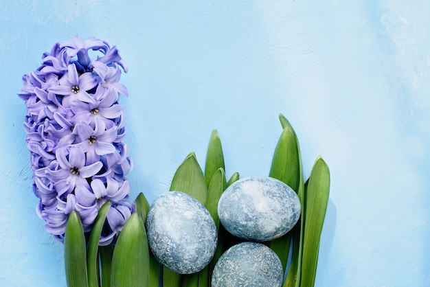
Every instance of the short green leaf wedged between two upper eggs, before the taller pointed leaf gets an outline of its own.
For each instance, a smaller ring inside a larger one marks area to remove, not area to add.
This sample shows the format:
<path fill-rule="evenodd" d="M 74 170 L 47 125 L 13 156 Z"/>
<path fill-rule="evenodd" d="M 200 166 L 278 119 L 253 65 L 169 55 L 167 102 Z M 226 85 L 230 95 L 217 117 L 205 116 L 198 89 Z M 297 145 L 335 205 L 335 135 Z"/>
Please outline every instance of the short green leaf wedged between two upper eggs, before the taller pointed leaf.
<path fill-rule="evenodd" d="M 223 168 L 219 168 L 210 181 L 205 204 L 206 209 L 214 219 L 217 229 L 219 229 L 220 225 L 220 219 L 218 217 L 218 201 L 220 200 L 226 185 L 224 170 Z"/>

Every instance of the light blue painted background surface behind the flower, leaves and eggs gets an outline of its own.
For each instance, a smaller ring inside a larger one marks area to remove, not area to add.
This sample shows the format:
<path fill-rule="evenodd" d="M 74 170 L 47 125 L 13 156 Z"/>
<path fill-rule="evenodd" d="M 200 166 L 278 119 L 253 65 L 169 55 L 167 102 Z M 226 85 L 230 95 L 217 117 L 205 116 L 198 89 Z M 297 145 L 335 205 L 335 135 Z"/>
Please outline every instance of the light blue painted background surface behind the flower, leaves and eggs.
<path fill-rule="evenodd" d="M 0 286 L 65 286 L 63 246 L 35 214 L 21 76 L 74 34 L 107 38 L 122 99 L 131 198 L 204 165 L 218 129 L 226 172 L 268 174 L 283 113 L 330 167 L 316 286 L 430 286 L 430 2 L 3 1 Z"/>

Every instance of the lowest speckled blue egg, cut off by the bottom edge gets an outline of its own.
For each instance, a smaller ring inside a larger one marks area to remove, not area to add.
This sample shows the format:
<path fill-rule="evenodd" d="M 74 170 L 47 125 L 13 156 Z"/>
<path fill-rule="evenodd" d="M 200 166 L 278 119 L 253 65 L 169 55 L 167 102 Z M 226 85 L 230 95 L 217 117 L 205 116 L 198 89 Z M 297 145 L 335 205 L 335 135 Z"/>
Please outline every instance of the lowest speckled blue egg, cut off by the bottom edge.
<path fill-rule="evenodd" d="M 216 262 L 212 287 L 280 287 L 283 279 L 276 253 L 258 242 L 242 242 L 230 247 Z"/>

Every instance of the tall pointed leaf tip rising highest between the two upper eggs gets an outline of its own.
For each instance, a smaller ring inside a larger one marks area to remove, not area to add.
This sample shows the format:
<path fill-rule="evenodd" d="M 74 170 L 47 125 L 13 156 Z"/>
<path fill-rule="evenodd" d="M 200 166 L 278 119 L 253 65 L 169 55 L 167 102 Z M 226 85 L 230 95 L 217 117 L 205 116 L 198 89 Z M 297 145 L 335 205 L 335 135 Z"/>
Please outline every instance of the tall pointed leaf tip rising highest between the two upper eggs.
<path fill-rule="evenodd" d="M 205 179 L 207 186 L 209 186 L 212 176 L 220 168 L 225 170 L 223 146 L 221 145 L 218 131 L 213 130 L 206 154 Z"/>

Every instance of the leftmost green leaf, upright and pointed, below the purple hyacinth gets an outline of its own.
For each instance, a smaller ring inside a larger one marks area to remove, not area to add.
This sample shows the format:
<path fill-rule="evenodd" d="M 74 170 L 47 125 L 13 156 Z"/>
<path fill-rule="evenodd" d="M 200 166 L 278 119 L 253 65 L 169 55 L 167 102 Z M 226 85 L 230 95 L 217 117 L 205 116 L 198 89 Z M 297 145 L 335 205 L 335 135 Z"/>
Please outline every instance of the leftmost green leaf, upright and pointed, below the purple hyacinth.
<path fill-rule="evenodd" d="M 67 286 L 88 286 L 84 229 L 78 213 L 74 210 L 67 221 L 64 247 Z"/>

